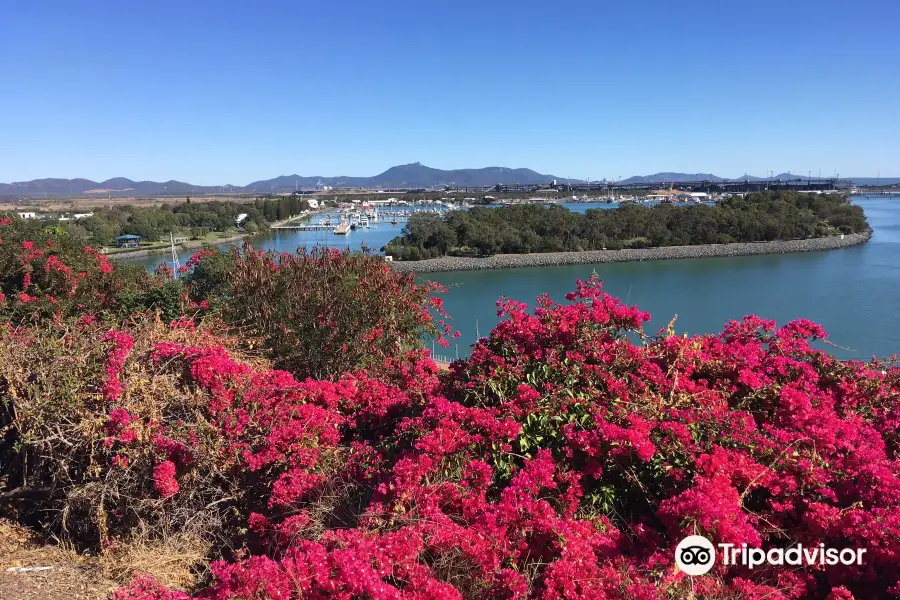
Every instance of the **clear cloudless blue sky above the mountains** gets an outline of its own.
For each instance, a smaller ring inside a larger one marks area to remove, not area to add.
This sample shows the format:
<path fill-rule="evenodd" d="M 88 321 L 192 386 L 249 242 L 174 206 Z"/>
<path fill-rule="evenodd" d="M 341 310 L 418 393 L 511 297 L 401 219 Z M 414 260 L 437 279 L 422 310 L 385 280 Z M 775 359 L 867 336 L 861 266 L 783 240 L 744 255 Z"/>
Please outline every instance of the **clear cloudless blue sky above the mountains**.
<path fill-rule="evenodd" d="M 10 0 L 0 181 L 900 176 L 898 23 L 898 0 Z"/>

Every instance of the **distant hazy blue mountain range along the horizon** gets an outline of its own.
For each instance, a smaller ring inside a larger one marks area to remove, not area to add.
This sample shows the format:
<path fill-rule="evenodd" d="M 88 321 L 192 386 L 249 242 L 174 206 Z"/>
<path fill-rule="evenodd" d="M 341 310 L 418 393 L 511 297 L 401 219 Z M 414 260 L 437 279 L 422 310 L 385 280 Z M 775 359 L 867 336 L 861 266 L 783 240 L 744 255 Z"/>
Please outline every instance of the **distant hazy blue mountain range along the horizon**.
<path fill-rule="evenodd" d="M 781 173 L 778 179 L 803 178 L 801 175 Z M 384 173 L 374 177 L 310 177 L 301 175 L 282 175 L 274 179 L 254 181 L 245 186 L 221 185 L 203 186 L 183 181 L 132 181 L 124 177 L 115 177 L 106 181 L 90 179 L 35 179 L 14 183 L 0 183 L 0 196 L 35 197 L 35 196 L 164 196 L 164 195 L 198 195 L 216 193 L 264 194 L 287 192 L 295 189 L 310 189 L 317 186 L 350 187 L 367 189 L 397 188 L 431 188 L 438 186 L 482 187 L 502 184 L 542 185 L 568 180 L 555 175 L 543 175 L 531 169 L 509 169 L 506 167 L 486 167 L 483 169 L 453 169 L 445 171 L 426 167 L 421 163 L 411 163 L 391 167 Z M 656 173 L 623 179 L 620 183 L 678 183 L 683 181 L 744 181 L 758 180 L 761 177 L 745 175 L 726 179 L 709 173 Z M 872 185 L 880 181 L 882 184 L 900 183 L 900 178 L 874 177 L 850 178 L 861 185 Z"/>

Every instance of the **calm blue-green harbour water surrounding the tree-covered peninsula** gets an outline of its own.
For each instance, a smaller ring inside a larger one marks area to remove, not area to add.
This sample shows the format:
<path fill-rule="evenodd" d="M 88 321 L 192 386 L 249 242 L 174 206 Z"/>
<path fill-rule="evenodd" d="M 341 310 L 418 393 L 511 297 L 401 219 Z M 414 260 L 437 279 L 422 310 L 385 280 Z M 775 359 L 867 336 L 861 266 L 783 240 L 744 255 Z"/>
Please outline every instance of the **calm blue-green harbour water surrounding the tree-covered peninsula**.
<path fill-rule="evenodd" d="M 429 274 L 450 288 L 445 306 L 461 333 L 449 349 L 438 351 L 467 354 L 476 330 L 485 335 L 497 323 L 499 297 L 533 303 L 547 292 L 562 301 L 577 279 L 596 270 L 608 292 L 652 315 L 648 332 L 664 328 L 676 314 L 676 329 L 687 333 L 720 331 L 727 321 L 749 314 L 779 323 L 804 317 L 825 327 L 832 343 L 841 347 L 831 351 L 841 357 L 888 356 L 900 351 L 900 201 L 859 198 L 854 203 L 866 211 L 874 234 L 869 243 L 843 250 Z M 566 206 L 583 211 L 615 205 Z M 365 243 L 378 249 L 402 227 L 381 223 L 346 238 L 280 231 L 254 239 L 254 245 L 293 251 L 317 243 L 352 248 Z M 161 260 L 135 262 L 155 265 Z"/>

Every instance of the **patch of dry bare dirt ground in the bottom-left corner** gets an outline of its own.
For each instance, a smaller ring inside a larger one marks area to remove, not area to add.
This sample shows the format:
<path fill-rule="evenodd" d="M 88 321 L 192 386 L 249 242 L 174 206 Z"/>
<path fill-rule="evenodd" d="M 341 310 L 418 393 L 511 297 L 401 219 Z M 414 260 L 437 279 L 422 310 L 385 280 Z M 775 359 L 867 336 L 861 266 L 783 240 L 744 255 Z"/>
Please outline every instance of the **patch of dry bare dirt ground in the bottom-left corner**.
<path fill-rule="evenodd" d="M 15 567 L 52 567 L 10 572 Z M 117 586 L 96 559 L 39 543 L 26 529 L 0 521 L 0 600 L 101 600 Z"/>

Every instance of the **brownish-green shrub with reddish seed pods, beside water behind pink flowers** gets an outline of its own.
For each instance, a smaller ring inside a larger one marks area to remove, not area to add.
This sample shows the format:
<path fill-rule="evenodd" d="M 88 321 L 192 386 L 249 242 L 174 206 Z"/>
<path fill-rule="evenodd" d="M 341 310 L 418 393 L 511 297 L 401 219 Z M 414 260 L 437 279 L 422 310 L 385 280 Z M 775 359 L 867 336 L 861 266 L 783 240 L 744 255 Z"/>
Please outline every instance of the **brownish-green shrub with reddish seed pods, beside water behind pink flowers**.
<path fill-rule="evenodd" d="M 265 340 L 275 365 L 300 378 L 339 377 L 421 346 L 441 312 L 433 292 L 380 257 L 317 247 L 295 254 L 250 246 L 206 256 L 188 277 L 195 301 Z"/>

